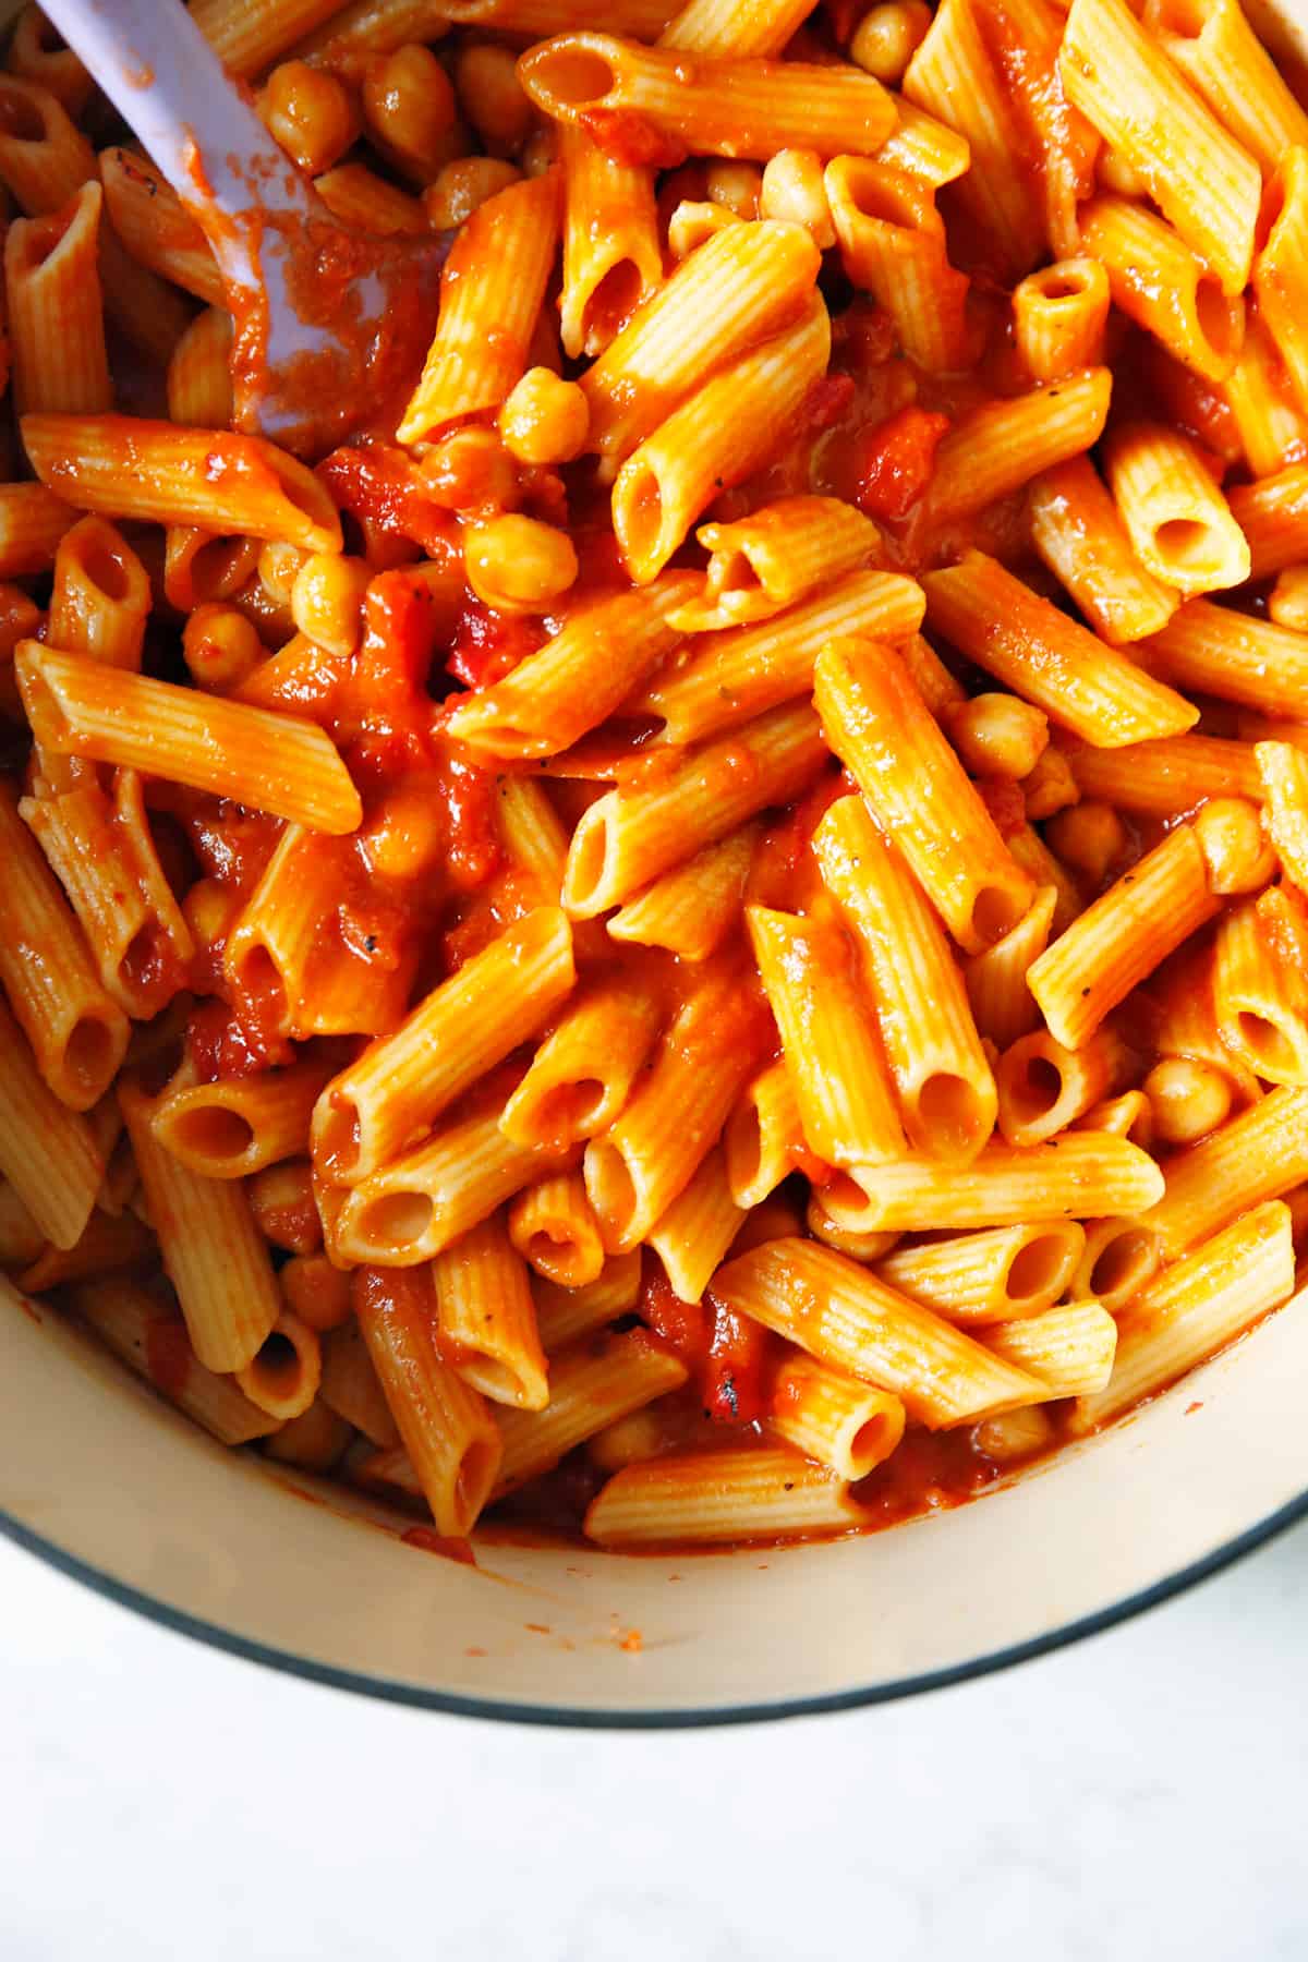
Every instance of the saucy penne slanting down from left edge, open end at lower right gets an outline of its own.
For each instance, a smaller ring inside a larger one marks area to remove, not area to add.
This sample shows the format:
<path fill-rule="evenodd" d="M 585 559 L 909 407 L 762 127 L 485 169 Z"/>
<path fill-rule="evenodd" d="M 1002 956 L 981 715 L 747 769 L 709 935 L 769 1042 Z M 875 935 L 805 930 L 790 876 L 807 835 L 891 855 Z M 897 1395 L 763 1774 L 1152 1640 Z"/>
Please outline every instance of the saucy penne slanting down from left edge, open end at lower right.
<path fill-rule="evenodd" d="M 55 1097 L 88 1110 L 126 1056 L 127 1016 L 96 975 L 65 895 L 4 783 L 0 865 L 0 987 Z"/>

